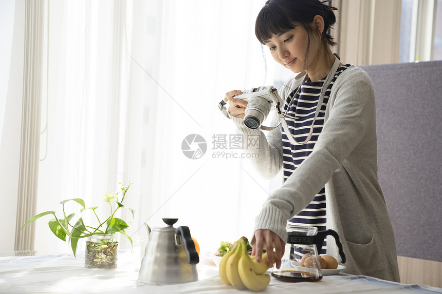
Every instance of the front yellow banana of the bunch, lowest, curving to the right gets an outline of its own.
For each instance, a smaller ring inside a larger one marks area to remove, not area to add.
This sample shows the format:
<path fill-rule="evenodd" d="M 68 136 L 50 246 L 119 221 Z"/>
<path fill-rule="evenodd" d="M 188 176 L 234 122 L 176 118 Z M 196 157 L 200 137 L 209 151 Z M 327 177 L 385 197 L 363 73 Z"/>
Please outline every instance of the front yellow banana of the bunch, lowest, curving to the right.
<path fill-rule="evenodd" d="M 242 242 L 244 244 L 244 242 Z M 246 251 L 241 252 L 241 259 L 238 262 L 238 274 L 244 285 L 252 291 L 262 291 L 270 283 L 269 275 L 256 275 L 252 269 L 252 259 Z"/>

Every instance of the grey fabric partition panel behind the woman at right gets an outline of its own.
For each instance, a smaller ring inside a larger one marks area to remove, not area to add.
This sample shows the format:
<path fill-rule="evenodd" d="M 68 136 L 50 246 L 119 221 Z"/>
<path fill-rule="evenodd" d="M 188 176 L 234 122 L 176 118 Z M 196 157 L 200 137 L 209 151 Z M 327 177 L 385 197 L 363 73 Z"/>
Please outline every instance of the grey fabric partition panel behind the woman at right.
<path fill-rule="evenodd" d="M 375 90 L 378 177 L 397 253 L 442 262 L 442 61 L 362 68 Z"/>

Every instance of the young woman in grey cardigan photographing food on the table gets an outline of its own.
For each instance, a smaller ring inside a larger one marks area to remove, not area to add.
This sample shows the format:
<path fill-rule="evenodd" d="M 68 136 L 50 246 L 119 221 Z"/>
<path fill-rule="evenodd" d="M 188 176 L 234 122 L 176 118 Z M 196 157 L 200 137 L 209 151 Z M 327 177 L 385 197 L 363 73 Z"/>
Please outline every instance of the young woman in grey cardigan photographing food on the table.
<path fill-rule="evenodd" d="M 261 260 L 263 247 L 274 248 L 279 268 L 287 221 L 317 226 L 338 232 L 345 272 L 399 281 L 393 229 L 377 179 L 373 86 L 363 70 L 340 63 L 331 52 L 334 10 L 319 0 L 269 0 L 256 18 L 256 37 L 274 60 L 306 73 L 278 91 L 288 130 L 279 127 L 266 136 L 246 127 L 247 102 L 235 99 L 241 91 L 226 93 L 240 132 L 260 135 L 260 147 L 246 150 L 258 154 L 252 156 L 254 166 L 265 178 L 281 168 L 284 174 L 284 184 L 255 219 L 252 254 Z M 320 251 L 339 257 L 333 240 Z"/>

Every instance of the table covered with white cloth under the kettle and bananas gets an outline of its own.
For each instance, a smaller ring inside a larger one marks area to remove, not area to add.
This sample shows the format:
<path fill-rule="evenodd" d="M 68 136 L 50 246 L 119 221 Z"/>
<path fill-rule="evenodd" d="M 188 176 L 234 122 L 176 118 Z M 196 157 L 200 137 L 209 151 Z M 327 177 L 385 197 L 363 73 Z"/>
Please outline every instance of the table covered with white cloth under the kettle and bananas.
<path fill-rule="evenodd" d="M 84 255 L 0 258 L 0 293 L 208 293 L 238 291 L 225 285 L 218 268 L 203 257 L 197 265 L 199 280 L 186 284 L 148 285 L 137 281 L 141 259 L 139 248 L 119 252 L 118 268 L 90 269 Z M 262 293 L 442 293 L 442 288 L 400 284 L 366 276 L 326 276 L 319 282 L 285 283 L 271 279 Z"/>

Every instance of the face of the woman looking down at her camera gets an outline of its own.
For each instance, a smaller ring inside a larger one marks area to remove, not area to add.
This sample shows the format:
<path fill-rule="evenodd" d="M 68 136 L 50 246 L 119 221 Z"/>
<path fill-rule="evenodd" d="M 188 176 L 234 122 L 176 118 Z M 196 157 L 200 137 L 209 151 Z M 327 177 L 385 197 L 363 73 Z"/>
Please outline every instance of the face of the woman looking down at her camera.
<path fill-rule="evenodd" d="M 317 44 L 310 38 L 310 49 L 313 51 Z M 307 51 L 308 33 L 301 25 L 272 37 L 265 42 L 270 49 L 273 59 L 292 72 L 302 72 L 305 68 L 305 53 Z M 310 59 L 310 57 L 309 57 Z M 308 72 L 308 71 L 307 71 Z"/>

